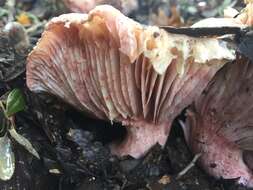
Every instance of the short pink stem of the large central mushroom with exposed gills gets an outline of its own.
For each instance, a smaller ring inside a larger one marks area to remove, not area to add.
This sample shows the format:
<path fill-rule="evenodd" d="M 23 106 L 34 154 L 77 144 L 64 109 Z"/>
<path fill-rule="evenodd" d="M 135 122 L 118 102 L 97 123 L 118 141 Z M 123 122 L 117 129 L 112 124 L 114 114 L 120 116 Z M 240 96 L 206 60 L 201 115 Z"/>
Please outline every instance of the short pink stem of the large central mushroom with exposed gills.
<path fill-rule="evenodd" d="M 164 146 L 170 132 L 170 122 L 154 124 L 144 119 L 124 121 L 127 125 L 127 135 L 123 141 L 110 145 L 113 154 L 119 156 L 131 155 L 139 158 L 155 144 Z"/>

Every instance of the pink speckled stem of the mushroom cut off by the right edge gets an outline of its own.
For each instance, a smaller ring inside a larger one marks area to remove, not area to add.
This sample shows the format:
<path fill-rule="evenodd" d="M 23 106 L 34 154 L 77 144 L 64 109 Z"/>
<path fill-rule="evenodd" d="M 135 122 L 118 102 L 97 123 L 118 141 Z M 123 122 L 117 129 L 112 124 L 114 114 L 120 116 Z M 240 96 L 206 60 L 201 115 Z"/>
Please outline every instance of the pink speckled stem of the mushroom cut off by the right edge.
<path fill-rule="evenodd" d="M 188 122 L 192 126 L 190 135 L 193 137 L 189 143 L 194 153 L 203 152 L 198 160 L 200 164 L 217 178 L 236 179 L 239 184 L 252 187 L 253 175 L 243 161 L 243 150 L 219 135 L 218 130 L 223 127 L 221 122 L 212 117 L 199 117 L 188 112 Z"/>

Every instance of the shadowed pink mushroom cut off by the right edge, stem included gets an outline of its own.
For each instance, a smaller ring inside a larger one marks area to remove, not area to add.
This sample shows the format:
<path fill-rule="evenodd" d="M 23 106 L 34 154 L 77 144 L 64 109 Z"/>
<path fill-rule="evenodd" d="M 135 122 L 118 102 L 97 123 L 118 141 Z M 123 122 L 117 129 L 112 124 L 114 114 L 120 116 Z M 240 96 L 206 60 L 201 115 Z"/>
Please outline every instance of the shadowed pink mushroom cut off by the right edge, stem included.
<path fill-rule="evenodd" d="M 253 187 L 253 64 L 223 67 L 187 111 L 187 143 L 211 175 Z"/>

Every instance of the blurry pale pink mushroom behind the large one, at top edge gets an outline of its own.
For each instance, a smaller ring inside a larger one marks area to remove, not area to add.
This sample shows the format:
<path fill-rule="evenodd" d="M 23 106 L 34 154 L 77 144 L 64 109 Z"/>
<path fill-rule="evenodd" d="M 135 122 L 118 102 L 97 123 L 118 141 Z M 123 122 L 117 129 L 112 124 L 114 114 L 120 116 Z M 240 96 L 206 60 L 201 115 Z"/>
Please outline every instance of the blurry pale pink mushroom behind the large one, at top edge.
<path fill-rule="evenodd" d="M 129 14 L 138 8 L 137 0 L 63 0 L 66 7 L 76 13 L 87 13 L 97 5 L 108 4 Z"/>

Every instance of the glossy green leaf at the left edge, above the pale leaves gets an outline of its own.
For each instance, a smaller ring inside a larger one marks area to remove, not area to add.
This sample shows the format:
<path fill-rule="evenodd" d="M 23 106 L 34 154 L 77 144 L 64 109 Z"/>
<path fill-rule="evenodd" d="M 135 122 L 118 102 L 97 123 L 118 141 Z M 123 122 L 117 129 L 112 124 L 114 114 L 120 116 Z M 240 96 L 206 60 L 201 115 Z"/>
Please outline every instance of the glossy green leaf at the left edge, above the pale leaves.
<path fill-rule="evenodd" d="M 25 99 L 20 89 L 14 89 L 7 97 L 6 111 L 7 117 L 25 109 Z"/>

